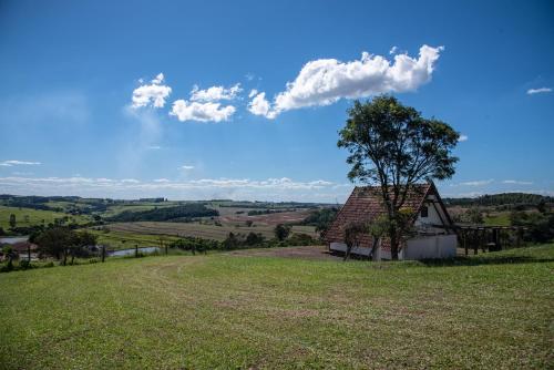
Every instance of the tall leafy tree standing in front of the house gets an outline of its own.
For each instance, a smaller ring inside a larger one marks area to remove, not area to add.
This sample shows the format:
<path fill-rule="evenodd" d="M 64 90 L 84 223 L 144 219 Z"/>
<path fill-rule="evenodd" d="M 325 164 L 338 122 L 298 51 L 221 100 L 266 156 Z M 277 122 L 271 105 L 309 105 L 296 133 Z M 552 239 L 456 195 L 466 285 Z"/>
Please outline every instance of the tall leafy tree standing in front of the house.
<path fill-rule="evenodd" d="M 396 97 L 381 95 L 371 102 L 356 101 L 348 110 L 337 145 L 348 150 L 350 181 L 378 185 L 389 222 L 391 258 L 398 259 L 402 235 L 400 209 L 410 192 L 423 181 L 454 174 L 452 150 L 460 134 L 447 123 L 424 119 Z"/>

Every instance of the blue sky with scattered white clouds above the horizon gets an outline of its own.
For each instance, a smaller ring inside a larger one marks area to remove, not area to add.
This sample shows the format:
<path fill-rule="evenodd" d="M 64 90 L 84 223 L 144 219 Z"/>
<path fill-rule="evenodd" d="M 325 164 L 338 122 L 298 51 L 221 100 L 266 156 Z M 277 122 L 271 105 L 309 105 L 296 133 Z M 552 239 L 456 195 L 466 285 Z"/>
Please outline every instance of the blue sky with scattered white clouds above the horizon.
<path fill-rule="evenodd" d="M 342 202 L 387 92 L 466 137 L 443 196 L 553 195 L 553 37 L 550 1 L 2 1 L 0 193 Z"/>

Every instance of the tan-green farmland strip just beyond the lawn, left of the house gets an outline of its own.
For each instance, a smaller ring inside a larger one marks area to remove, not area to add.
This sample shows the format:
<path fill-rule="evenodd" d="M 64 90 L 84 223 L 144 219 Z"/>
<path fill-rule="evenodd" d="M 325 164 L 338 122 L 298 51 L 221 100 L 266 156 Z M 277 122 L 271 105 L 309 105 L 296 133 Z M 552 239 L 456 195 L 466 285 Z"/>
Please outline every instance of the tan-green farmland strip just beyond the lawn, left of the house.
<path fill-rule="evenodd" d="M 150 234 L 150 235 L 168 235 L 168 236 L 194 236 L 205 239 L 224 240 L 229 233 L 247 235 L 250 232 L 260 233 L 266 238 L 273 238 L 275 226 L 216 226 L 213 224 L 199 223 L 155 223 L 155 222 L 138 222 L 138 223 L 115 223 L 106 225 L 112 232 L 123 232 L 130 234 Z M 294 226 L 293 233 L 304 233 L 316 237 L 315 227 L 312 226 Z"/>

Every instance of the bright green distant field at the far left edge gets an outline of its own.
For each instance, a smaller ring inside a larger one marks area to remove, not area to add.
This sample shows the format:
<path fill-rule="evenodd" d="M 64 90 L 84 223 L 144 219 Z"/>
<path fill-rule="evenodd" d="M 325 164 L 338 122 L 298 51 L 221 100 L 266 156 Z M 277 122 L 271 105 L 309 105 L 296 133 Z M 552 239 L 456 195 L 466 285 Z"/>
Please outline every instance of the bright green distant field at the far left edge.
<path fill-rule="evenodd" d="M 42 220 L 44 220 L 44 224 L 48 225 L 50 223 L 53 223 L 55 218 L 63 218 L 65 216 L 69 217 L 69 223 L 73 220 L 78 224 L 90 222 L 90 218 L 88 216 L 73 216 L 62 212 L 0 206 L 0 227 L 2 227 L 4 230 L 10 227 L 11 214 L 16 215 L 16 226 L 19 227 L 41 225 Z M 25 216 L 29 216 L 28 223 L 25 223 Z"/>

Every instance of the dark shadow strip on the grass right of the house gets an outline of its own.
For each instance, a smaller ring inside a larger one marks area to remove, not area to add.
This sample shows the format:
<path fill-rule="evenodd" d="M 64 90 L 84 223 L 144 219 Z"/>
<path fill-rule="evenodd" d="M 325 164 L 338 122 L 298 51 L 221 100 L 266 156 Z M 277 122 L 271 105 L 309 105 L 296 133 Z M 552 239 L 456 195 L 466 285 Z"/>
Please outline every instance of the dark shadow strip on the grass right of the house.
<path fill-rule="evenodd" d="M 428 267 L 443 266 L 480 266 L 480 265 L 515 265 L 554 263 L 554 258 L 537 258 L 532 256 L 492 256 L 455 257 L 451 259 L 422 259 L 420 263 Z"/>

